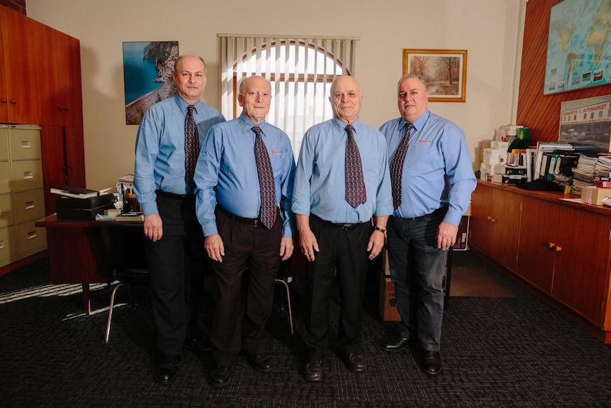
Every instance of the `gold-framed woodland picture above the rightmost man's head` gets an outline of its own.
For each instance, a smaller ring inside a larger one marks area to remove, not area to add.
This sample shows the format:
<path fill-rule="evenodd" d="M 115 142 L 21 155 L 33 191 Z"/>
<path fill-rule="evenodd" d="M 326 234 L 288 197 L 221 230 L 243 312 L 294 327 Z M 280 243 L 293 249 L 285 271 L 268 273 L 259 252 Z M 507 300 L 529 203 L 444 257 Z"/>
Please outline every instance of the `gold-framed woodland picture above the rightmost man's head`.
<path fill-rule="evenodd" d="M 403 48 L 403 74 L 425 79 L 430 102 L 466 100 L 466 62 L 467 50 Z"/>

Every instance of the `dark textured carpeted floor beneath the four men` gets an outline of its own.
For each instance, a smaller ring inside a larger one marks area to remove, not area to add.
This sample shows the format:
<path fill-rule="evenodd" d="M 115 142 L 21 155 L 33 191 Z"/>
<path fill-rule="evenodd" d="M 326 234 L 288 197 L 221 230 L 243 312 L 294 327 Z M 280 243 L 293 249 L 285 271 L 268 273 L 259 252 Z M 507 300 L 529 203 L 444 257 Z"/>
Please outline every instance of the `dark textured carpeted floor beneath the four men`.
<path fill-rule="evenodd" d="M 471 253 L 455 251 L 453 265 L 477 270 L 511 296 L 452 297 L 444 314 L 439 377 L 422 373 L 417 351 L 380 350 L 398 323 L 381 321 L 377 287 L 369 287 L 362 347 L 368 369 L 352 373 L 331 353 L 323 382 L 306 382 L 298 374 L 296 287 L 291 292 L 296 333 L 289 332 L 286 309 L 274 308 L 269 321 L 267 351 L 274 370 L 258 373 L 238 360 L 230 385 L 215 390 L 208 383 L 212 360 L 188 351 L 175 382 L 154 382 L 157 353 L 146 288 L 135 289 L 135 310 L 125 305 L 127 291 L 119 291 L 118 303 L 124 305 L 116 309 L 105 344 L 110 290 L 97 286 L 91 295 L 94 313 L 85 316 L 79 287 L 49 285 L 48 263 L 41 260 L 0 277 L 0 407 L 611 406 L 611 345 Z M 452 294 L 460 276 L 453 273 Z M 338 310 L 337 304 L 330 310 L 332 333 Z M 204 323 L 208 317 L 203 314 Z"/>

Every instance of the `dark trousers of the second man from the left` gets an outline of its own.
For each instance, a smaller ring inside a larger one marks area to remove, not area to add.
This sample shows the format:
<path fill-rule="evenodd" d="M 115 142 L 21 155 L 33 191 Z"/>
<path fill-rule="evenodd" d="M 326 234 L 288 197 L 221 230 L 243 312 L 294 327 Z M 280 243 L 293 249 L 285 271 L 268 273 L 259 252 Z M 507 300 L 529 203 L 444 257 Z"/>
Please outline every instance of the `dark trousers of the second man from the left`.
<path fill-rule="evenodd" d="M 217 209 L 216 224 L 223 239 L 223 262 L 211 260 L 218 285 L 211 341 L 219 365 L 232 365 L 240 349 L 252 354 L 265 351 L 265 325 L 274 300 L 274 280 L 280 269 L 282 221 L 270 229 L 259 222 L 228 216 Z M 249 270 L 242 323 L 242 275 Z"/>

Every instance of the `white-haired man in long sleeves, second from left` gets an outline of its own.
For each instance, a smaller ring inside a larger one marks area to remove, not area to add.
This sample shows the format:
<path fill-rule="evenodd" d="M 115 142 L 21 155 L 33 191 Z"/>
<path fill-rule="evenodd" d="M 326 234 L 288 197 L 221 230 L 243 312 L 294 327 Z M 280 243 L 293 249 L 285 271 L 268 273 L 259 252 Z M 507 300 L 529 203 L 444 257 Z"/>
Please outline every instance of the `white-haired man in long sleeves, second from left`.
<path fill-rule="evenodd" d="M 271 371 L 265 324 L 280 263 L 293 254 L 295 159 L 286 133 L 265 121 L 271 85 L 249 77 L 240 83 L 237 101 L 242 114 L 208 131 L 195 172 L 197 216 L 219 290 L 211 335 L 214 387 L 230 382 L 239 353 L 255 370 Z M 242 324 L 245 268 L 250 279 Z"/>

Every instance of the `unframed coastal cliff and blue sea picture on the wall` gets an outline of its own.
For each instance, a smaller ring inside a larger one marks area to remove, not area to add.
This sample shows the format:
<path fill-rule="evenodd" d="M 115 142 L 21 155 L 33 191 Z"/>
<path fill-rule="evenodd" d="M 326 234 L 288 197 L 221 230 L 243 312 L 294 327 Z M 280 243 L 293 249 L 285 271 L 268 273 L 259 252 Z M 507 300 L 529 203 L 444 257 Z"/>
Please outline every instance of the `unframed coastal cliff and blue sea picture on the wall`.
<path fill-rule="evenodd" d="M 172 72 L 178 55 L 178 41 L 123 43 L 126 124 L 140 124 L 149 106 L 176 94 Z"/>

